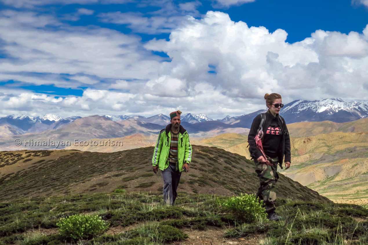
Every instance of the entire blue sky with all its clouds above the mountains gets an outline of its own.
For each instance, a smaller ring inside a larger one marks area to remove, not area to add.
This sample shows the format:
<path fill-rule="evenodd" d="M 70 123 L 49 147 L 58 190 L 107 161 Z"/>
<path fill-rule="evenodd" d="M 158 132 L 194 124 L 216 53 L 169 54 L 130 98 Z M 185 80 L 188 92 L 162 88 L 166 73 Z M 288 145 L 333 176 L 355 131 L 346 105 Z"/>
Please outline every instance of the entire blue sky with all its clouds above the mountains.
<path fill-rule="evenodd" d="M 0 116 L 367 99 L 367 0 L 0 0 L 0 23 Z"/>

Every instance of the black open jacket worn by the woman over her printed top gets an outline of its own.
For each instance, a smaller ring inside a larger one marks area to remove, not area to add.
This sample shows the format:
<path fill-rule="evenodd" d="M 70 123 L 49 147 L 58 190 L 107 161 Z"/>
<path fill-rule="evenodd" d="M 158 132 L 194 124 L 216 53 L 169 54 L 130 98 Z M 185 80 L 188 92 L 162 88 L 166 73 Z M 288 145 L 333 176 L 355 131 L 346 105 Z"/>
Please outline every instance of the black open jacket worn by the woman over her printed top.
<path fill-rule="evenodd" d="M 289 161 L 291 162 L 291 152 L 290 152 L 290 135 L 289 131 L 287 130 L 286 123 L 284 118 L 280 117 L 278 114 L 276 117 L 279 120 L 279 124 L 282 125 L 282 147 L 279 149 L 279 163 L 282 164 L 282 161 L 285 157 L 285 162 Z M 263 135 L 266 134 L 266 130 L 270 125 L 271 120 L 275 118 L 270 112 L 266 113 L 266 120 L 263 123 Z M 254 119 L 253 123 L 251 125 L 249 134 L 248 134 L 248 143 L 249 143 L 249 152 L 251 153 L 251 156 L 253 159 L 257 159 L 258 157 L 262 156 L 261 151 L 257 148 L 254 137 L 257 134 L 257 130 L 259 127 L 259 124 L 261 123 L 261 114 L 258 114 Z"/>

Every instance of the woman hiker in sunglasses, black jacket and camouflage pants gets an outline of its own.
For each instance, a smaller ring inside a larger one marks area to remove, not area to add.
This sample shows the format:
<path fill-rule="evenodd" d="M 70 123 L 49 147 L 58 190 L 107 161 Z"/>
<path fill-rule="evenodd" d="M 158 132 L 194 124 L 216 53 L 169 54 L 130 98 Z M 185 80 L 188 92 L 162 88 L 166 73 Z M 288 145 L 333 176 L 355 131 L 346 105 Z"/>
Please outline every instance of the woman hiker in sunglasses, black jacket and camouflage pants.
<path fill-rule="evenodd" d="M 266 93 L 264 98 L 268 110 L 254 118 L 248 143 L 260 182 L 257 196 L 263 200 L 268 219 L 277 221 L 281 219 L 275 213 L 275 184 L 279 178 L 277 164 L 282 168 L 285 157 L 285 167 L 290 167 L 290 136 L 284 118 L 279 116 L 280 109 L 284 106 L 281 95 Z"/>

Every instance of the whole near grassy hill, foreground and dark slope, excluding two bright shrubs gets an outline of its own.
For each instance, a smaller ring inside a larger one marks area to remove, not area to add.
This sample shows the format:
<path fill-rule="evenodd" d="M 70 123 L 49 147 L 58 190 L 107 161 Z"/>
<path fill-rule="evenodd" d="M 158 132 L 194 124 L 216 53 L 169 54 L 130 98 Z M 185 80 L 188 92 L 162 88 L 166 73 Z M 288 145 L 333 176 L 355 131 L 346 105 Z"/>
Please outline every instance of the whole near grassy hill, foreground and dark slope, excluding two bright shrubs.
<path fill-rule="evenodd" d="M 276 211 L 282 221 L 244 221 L 220 203 L 255 193 L 253 163 L 223 149 L 193 146 L 176 206 L 162 201 L 152 173 L 153 147 L 114 153 L 78 150 L 0 152 L 0 244 L 202 245 L 348 244 L 368 241 L 368 210 L 335 204 L 280 174 Z M 124 188 L 117 193 L 117 188 Z M 72 240 L 57 221 L 98 215 L 100 236 Z M 247 223 L 248 222 L 248 223 Z"/>

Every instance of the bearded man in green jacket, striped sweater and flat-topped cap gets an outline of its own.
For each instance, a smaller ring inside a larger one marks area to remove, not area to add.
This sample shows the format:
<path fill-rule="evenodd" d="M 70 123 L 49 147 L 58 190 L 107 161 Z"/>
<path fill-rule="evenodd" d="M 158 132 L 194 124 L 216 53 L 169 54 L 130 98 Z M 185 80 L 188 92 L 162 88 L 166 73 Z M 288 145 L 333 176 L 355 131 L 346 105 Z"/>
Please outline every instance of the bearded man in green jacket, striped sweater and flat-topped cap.
<path fill-rule="evenodd" d="M 174 205 L 181 172 L 189 171 L 192 146 L 188 132 L 180 125 L 181 111 L 170 113 L 170 124 L 160 131 L 152 157 L 153 172 L 161 170 L 163 199 Z"/>

